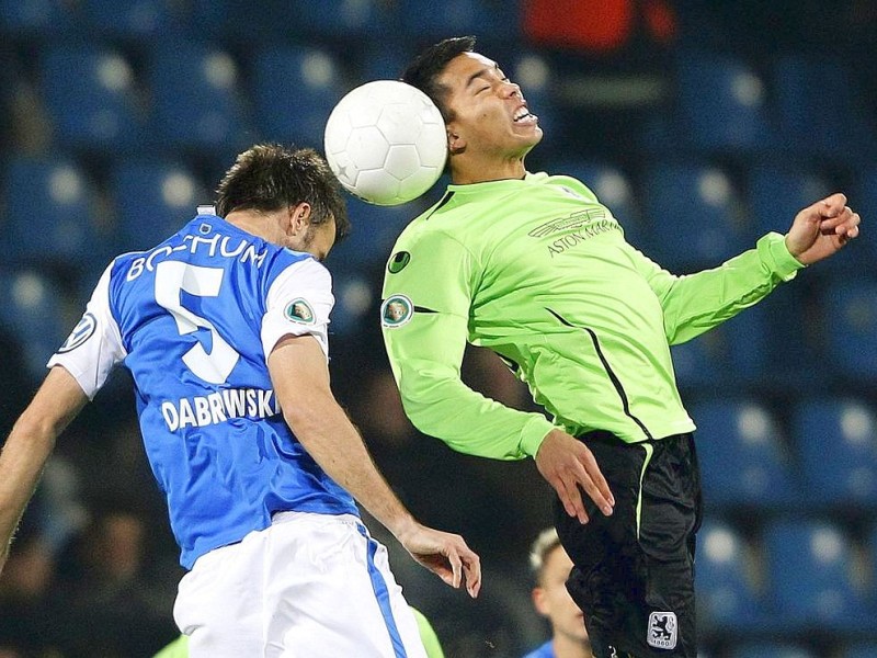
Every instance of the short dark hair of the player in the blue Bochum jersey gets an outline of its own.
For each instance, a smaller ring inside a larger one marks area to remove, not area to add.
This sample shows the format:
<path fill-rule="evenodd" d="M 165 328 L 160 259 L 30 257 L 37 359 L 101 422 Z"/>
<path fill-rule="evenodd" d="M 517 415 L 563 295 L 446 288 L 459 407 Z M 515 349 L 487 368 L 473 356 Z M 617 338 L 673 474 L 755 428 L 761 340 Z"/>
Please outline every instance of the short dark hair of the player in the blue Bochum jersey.
<path fill-rule="evenodd" d="M 312 148 L 257 144 L 240 154 L 216 190 L 216 214 L 310 204 L 310 223 L 335 219 L 335 241 L 350 232 L 350 219 L 338 179 Z"/>

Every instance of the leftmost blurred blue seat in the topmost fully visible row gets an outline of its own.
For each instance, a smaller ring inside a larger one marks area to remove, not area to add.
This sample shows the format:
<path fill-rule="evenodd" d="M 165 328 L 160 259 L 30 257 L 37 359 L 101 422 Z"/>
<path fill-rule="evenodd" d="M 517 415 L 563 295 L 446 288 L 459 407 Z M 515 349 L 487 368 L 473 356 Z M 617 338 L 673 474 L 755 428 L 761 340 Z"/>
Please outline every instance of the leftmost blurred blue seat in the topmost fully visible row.
<path fill-rule="evenodd" d="M 136 150 L 144 138 L 134 72 L 117 50 L 55 46 L 42 57 L 43 99 L 55 139 L 83 150 Z"/>

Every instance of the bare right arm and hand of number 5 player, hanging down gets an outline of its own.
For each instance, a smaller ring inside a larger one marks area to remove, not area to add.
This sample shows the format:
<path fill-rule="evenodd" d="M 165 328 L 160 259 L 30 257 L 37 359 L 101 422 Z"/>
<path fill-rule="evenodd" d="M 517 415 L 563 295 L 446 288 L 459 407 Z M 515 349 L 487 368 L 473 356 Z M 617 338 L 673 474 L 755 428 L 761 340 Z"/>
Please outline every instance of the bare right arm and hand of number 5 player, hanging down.
<path fill-rule="evenodd" d="M 267 363 L 284 418 L 310 456 L 417 561 L 454 588 L 465 581 L 469 595 L 477 597 L 481 587 L 478 555 L 459 535 L 419 523 L 392 492 L 331 392 L 319 343 L 310 336 L 287 336 Z"/>

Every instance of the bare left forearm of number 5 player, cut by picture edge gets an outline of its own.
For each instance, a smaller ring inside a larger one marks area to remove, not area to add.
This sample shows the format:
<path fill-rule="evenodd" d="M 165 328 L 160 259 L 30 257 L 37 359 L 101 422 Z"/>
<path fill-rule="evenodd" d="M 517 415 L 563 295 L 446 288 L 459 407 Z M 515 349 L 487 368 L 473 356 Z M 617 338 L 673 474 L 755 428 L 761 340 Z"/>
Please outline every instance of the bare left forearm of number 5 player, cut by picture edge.
<path fill-rule="evenodd" d="M 72 375 L 56 366 L 15 421 L 0 453 L 0 571 L 55 440 L 87 401 Z"/>

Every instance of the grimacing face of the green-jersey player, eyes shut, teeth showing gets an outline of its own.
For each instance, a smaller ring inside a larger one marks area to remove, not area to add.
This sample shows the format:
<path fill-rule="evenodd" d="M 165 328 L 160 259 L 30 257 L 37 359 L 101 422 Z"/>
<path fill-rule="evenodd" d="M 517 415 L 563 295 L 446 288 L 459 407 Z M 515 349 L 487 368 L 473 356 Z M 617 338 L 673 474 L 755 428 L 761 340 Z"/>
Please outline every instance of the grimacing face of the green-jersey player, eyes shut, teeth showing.
<path fill-rule="evenodd" d="M 452 59 L 438 76 L 449 93 L 445 104 L 459 146 L 498 158 L 523 157 L 542 139 L 538 118 L 527 110 L 521 88 L 509 80 L 496 61 L 477 53 Z"/>

